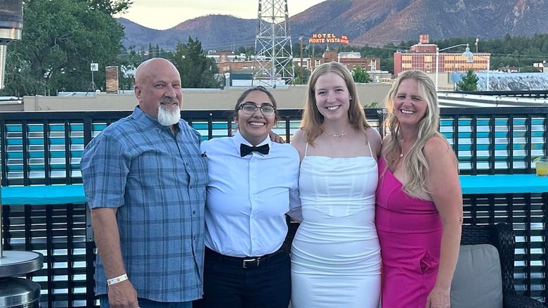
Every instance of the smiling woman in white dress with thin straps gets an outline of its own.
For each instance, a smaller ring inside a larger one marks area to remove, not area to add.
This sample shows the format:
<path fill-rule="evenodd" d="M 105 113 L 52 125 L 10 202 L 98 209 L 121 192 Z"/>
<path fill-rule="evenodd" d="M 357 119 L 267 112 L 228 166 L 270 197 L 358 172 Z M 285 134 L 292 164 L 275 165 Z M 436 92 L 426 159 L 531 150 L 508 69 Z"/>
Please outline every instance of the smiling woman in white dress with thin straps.
<path fill-rule="evenodd" d="M 374 225 L 381 138 L 365 119 L 348 69 L 320 65 L 308 83 L 301 129 L 303 221 L 291 249 L 294 308 L 377 308 L 381 254 Z"/>

